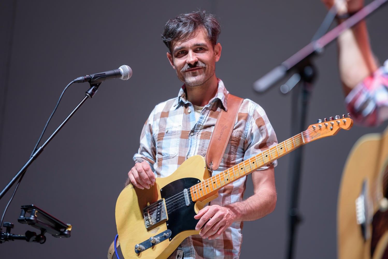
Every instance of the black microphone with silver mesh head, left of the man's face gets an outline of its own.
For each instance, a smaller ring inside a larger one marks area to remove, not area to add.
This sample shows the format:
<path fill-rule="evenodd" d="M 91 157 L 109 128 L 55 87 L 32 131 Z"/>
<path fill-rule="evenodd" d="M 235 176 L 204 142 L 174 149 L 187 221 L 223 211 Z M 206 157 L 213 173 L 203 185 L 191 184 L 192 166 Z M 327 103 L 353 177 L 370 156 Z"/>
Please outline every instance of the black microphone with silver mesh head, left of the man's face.
<path fill-rule="evenodd" d="M 117 79 L 128 80 L 132 76 L 132 69 L 123 65 L 118 69 L 113 69 L 109 71 L 105 71 L 102 73 L 91 74 L 86 76 L 80 76 L 79 78 L 74 79 L 74 83 L 83 83 L 83 82 L 104 82 L 108 79 Z"/>

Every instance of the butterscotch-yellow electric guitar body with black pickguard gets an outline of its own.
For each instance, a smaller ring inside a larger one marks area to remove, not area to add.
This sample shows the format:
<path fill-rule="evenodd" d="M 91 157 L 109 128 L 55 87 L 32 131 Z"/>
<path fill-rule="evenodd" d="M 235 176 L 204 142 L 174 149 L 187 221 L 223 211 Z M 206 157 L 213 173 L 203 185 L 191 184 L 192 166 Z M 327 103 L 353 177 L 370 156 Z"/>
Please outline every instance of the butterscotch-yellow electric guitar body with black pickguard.
<path fill-rule="evenodd" d="M 207 202 L 215 199 L 217 193 L 203 200 L 203 202 L 191 202 L 188 206 L 185 204 L 185 199 L 178 202 L 178 205 L 172 204 L 176 203 L 174 203 L 176 201 L 175 197 L 182 196 L 184 189 L 188 189 L 209 177 L 204 158 L 196 155 L 182 163 L 170 176 L 156 178 L 156 182 L 151 186 L 151 189 L 141 190 L 133 185 L 126 186 L 120 193 L 116 203 L 117 233 L 121 252 L 125 259 L 167 258 L 186 237 L 198 234 L 199 231 L 195 230 L 198 221 L 194 219 L 194 215 Z M 160 215 L 161 218 L 153 219 L 154 227 L 151 226 L 147 229 L 146 223 L 150 223 L 147 221 L 148 214 L 147 212 L 144 213 L 143 209 L 162 199 L 165 203 L 149 207 L 150 213 L 156 212 L 155 214 Z M 163 220 L 163 214 L 167 214 L 167 219 Z M 158 219 L 161 223 L 157 222 Z M 171 234 L 168 231 L 171 231 Z M 163 233 L 166 233 L 166 235 L 163 235 Z M 151 245 L 150 237 L 156 239 L 159 237 L 157 242 L 162 241 Z M 135 246 L 142 245 L 142 243 L 149 244 L 151 247 L 136 251 Z"/>

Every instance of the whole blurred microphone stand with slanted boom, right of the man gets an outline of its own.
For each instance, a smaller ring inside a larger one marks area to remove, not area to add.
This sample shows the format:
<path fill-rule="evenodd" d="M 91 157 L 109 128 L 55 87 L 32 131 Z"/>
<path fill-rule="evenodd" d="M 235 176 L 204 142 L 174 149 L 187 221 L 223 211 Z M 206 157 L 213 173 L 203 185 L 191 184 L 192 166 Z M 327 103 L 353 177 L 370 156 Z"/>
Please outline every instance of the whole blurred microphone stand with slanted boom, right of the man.
<path fill-rule="evenodd" d="M 275 67 L 272 71 L 267 73 L 262 78 L 258 79 L 254 84 L 254 89 L 256 92 L 265 92 L 272 85 L 277 83 L 280 79 L 284 78 L 286 74 L 291 71 L 296 73 L 292 76 L 285 85 L 282 85 L 281 91 L 283 93 L 289 92 L 294 86 L 299 85 L 301 81 L 301 107 L 300 113 L 298 112 L 298 99 L 299 91 L 293 92 L 293 106 L 291 108 L 292 114 L 300 114 L 300 118 L 297 121 L 299 123 L 292 124 L 292 129 L 294 134 L 305 129 L 305 117 L 307 111 L 307 104 L 310 97 L 310 91 L 312 89 L 312 82 L 315 79 L 315 69 L 312 66 L 311 59 L 314 55 L 320 54 L 323 52 L 323 48 L 335 40 L 343 31 L 351 28 L 362 19 L 367 17 L 369 14 L 377 10 L 381 5 L 386 3 L 388 0 L 374 0 L 369 5 L 366 5 L 359 12 L 354 14 L 352 17 L 349 17 L 346 21 L 342 22 L 340 25 L 336 26 L 334 29 L 326 33 L 324 36 L 318 40 L 314 40 L 309 43 L 307 46 L 299 50 L 296 54 L 291 56 L 289 59 L 284 61 L 280 66 Z M 294 247 L 294 235 L 296 231 L 296 226 L 301 222 L 301 216 L 298 211 L 298 195 L 299 195 L 299 183 L 300 183 L 300 173 L 301 173 L 301 164 L 302 164 L 302 151 L 303 146 L 298 148 L 293 152 L 291 157 L 291 197 L 290 197 L 290 207 L 289 207 L 289 236 L 288 236 L 288 248 L 287 248 L 287 258 L 293 258 L 293 247 Z"/>

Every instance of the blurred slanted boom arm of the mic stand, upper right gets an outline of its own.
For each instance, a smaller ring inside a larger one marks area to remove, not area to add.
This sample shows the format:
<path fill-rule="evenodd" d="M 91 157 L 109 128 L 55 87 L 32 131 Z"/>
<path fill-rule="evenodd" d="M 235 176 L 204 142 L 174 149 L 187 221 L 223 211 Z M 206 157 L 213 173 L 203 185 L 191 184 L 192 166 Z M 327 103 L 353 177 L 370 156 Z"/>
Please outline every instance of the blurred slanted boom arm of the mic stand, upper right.
<path fill-rule="evenodd" d="M 381 5 L 388 0 L 374 0 L 369 5 L 366 5 L 359 12 L 336 26 L 334 29 L 326 33 L 318 40 L 312 41 L 307 46 L 296 52 L 289 59 L 282 62 L 280 66 L 275 67 L 270 72 L 262 76 L 253 84 L 253 89 L 258 93 L 267 91 L 271 86 L 275 85 L 279 80 L 284 78 L 289 72 L 294 69 L 301 69 L 308 62 L 308 59 L 315 54 L 319 54 L 323 51 L 323 48 L 338 38 L 340 34 L 348 28 L 351 28 L 369 14 L 378 9 Z"/>

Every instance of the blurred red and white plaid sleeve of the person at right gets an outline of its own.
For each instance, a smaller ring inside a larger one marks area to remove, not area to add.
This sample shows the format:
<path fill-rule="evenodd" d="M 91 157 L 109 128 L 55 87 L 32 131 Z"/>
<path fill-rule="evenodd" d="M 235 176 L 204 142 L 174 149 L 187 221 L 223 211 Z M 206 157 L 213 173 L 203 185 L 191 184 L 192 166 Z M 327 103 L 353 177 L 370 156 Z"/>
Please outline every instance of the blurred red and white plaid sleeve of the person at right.
<path fill-rule="evenodd" d="M 377 126 L 388 119 L 388 60 L 345 98 L 353 119 L 363 126 Z"/>

